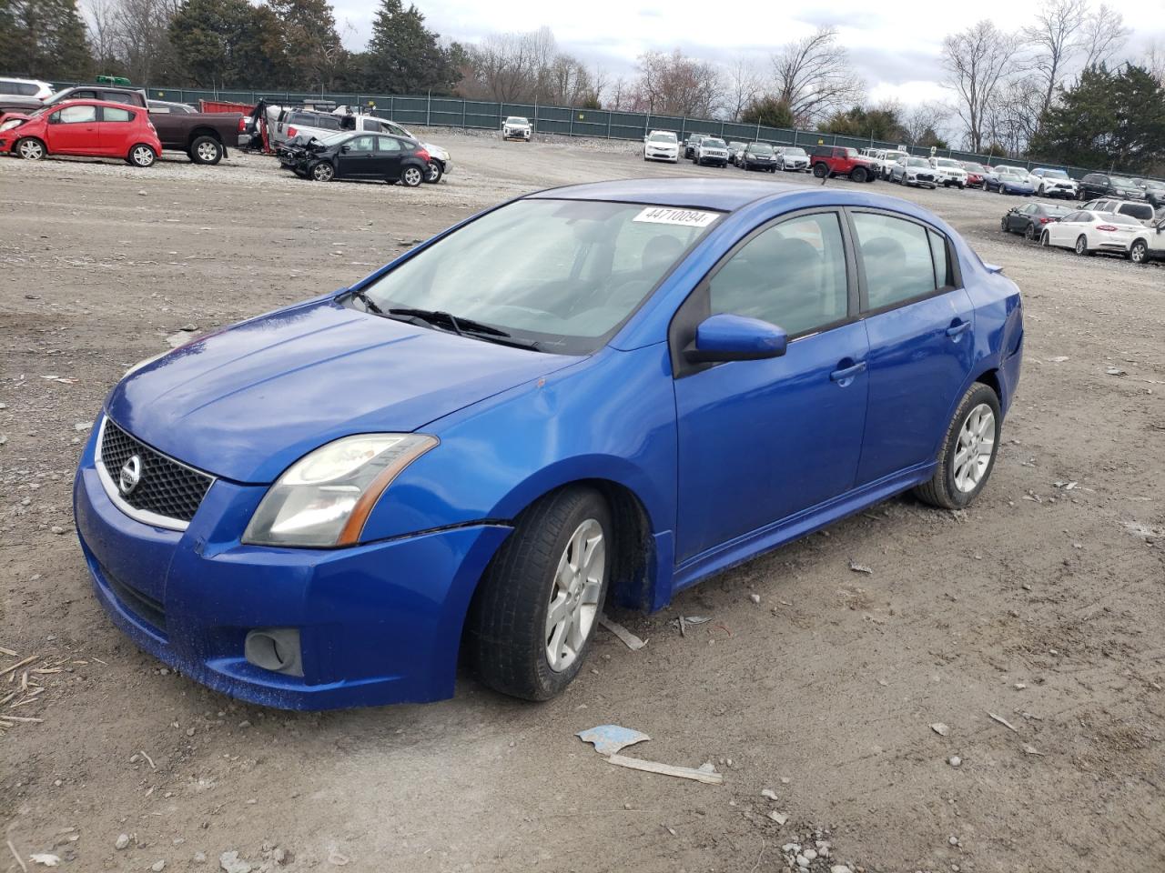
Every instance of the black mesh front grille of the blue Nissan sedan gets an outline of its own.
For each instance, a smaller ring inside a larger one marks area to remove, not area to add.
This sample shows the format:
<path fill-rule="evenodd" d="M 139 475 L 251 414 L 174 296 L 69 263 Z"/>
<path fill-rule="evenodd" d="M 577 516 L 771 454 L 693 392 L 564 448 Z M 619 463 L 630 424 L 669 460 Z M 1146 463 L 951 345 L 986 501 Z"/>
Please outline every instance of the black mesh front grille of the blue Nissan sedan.
<path fill-rule="evenodd" d="M 141 477 L 128 494 L 120 488 L 121 469 L 136 455 Z M 101 434 L 101 463 L 112 481 L 116 497 L 132 509 L 151 512 L 176 521 L 195 517 L 213 476 L 191 469 L 134 439 L 108 418 Z"/>

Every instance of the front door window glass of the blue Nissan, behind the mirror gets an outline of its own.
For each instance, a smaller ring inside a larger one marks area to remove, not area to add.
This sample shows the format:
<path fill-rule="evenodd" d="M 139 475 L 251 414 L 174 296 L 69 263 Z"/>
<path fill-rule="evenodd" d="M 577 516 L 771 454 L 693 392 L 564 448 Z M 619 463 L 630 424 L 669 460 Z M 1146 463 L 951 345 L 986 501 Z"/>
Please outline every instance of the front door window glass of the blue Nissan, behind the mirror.
<path fill-rule="evenodd" d="M 846 250 L 836 213 L 802 215 L 746 242 L 708 283 L 712 314 L 748 315 L 790 336 L 848 314 Z"/>

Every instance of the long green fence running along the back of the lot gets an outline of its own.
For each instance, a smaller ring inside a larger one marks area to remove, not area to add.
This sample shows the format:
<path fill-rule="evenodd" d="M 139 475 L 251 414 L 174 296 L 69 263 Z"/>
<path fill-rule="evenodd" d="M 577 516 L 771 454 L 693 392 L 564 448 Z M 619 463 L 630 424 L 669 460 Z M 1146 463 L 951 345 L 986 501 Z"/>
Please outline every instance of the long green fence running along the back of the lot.
<path fill-rule="evenodd" d="M 76 83 L 52 83 L 56 88 L 68 87 Z M 798 130 L 792 128 L 765 127 L 763 125 L 742 125 L 733 121 L 715 121 L 713 119 L 694 119 L 678 115 L 652 115 L 642 112 L 616 112 L 608 109 L 581 109 L 566 106 L 546 106 L 543 104 L 507 104 L 483 100 L 463 100 L 456 97 L 435 97 L 432 94 L 359 94 L 329 92 L 295 91 L 217 91 L 205 88 L 170 88 L 147 87 L 150 99 L 175 100 L 198 105 L 199 100 L 219 102 L 239 102 L 254 105 L 260 99 L 274 104 L 304 104 L 331 101 L 337 106 L 360 107 L 374 115 L 391 119 L 402 125 L 454 127 L 466 129 L 500 130 L 502 120 L 508 115 L 523 115 L 534 122 L 535 130 L 543 134 L 560 134 L 563 136 L 589 136 L 606 140 L 642 141 L 652 130 L 672 130 L 680 139 L 690 134 L 711 134 L 726 141 L 770 142 L 775 146 L 800 146 L 810 149 L 818 144 L 848 146 L 855 149 L 876 148 L 896 149 L 898 143 L 883 142 L 874 139 L 822 134 L 817 130 Z M 930 149 L 909 147 L 915 155 L 930 156 Z M 1025 169 L 1047 166 L 1065 170 L 1079 179 L 1095 169 L 1082 166 L 1064 166 L 1029 159 L 1001 159 L 976 155 L 958 149 L 939 149 L 939 157 L 951 157 L 955 161 L 973 161 L 981 164 L 1007 163 Z M 1115 172 L 1115 171 L 1113 171 Z M 1139 175 L 1139 173 L 1135 173 Z"/>

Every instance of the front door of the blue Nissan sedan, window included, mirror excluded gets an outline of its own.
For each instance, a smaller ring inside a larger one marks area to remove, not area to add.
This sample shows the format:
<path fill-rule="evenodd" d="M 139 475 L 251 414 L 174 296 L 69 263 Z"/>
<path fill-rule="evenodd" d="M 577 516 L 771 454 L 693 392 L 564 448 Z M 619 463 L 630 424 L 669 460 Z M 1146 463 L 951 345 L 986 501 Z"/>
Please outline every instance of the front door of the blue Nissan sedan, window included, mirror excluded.
<path fill-rule="evenodd" d="M 854 485 L 868 345 L 852 320 L 841 220 L 832 210 L 803 213 L 754 233 L 676 318 L 729 312 L 790 338 L 782 357 L 677 369 L 678 562 Z"/>

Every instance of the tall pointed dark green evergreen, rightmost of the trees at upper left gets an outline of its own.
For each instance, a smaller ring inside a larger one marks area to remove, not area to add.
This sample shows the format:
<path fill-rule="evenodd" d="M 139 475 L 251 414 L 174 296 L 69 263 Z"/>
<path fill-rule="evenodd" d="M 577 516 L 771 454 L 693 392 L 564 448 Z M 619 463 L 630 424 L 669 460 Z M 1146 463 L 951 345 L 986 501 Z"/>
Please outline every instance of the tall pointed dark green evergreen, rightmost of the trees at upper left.
<path fill-rule="evenodd" d="M 366 52 L 365 87 L 389 94 L 449 92 L 457 71 L 437 38 L 416 6 L 405 9 L 401 0 L 380 0 Z"/>

